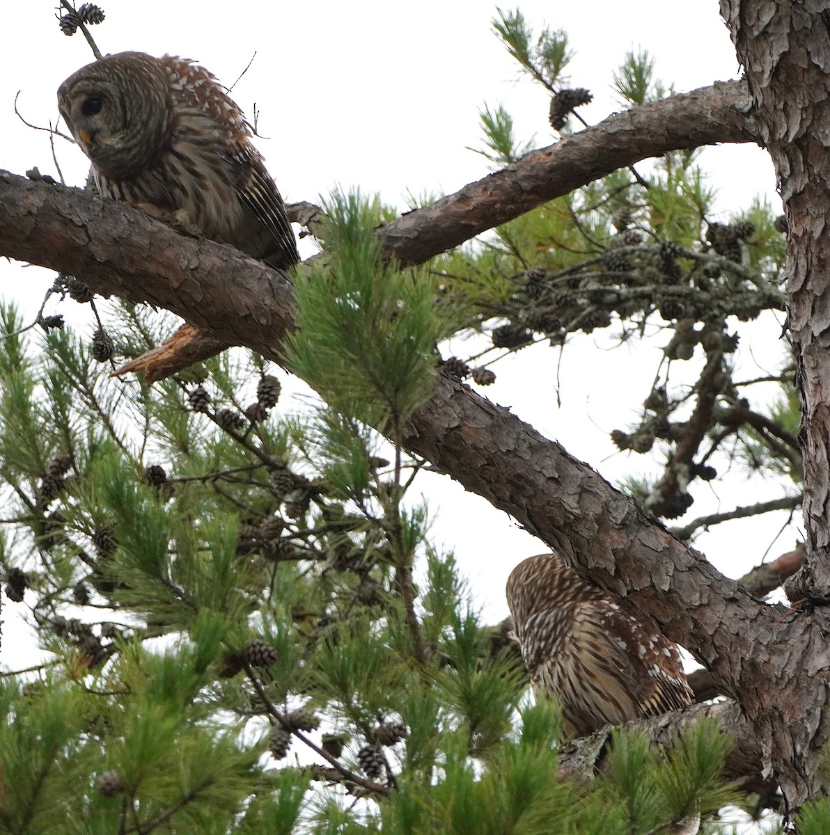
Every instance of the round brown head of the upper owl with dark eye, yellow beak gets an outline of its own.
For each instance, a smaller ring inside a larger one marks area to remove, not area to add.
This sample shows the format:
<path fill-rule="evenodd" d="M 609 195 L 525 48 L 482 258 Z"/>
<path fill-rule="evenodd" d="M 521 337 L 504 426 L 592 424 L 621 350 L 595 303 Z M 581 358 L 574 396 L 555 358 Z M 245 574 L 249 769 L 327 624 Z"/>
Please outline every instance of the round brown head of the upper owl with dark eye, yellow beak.
<path fill-rule="evenodd" d="M 169 83 L 157 58 L 117 53 L 58 89 L 58 109 L 94 168 L 124 180 L 150 164 L 169 131 Z"/>

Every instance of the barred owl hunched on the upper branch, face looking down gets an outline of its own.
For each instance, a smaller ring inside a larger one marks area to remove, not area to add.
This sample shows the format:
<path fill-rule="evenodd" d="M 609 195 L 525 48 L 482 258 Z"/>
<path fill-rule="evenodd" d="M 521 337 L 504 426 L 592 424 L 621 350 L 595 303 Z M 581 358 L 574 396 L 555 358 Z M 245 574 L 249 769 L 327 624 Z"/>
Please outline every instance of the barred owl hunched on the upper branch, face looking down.
<path fill-rule="evenodd" d="M 270 266 L 298 261 L 251 129 L 206 69 L 171 55 L 108 55 L 60 85 L 58 107 L 101 195 L 149 204 Z"/>

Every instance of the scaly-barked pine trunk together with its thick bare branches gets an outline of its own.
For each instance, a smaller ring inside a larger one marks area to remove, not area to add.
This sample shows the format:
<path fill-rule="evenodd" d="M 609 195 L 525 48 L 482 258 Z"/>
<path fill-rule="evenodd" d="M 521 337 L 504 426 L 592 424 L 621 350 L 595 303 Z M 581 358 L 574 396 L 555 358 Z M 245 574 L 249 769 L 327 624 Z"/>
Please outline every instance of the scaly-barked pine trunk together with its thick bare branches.
<path fill-rule="evenodd" d="M 379 235 L 401 263 L 425 261 L 639 159 L 760 137 L 777 164 L 790 220 L 791 324 L 807 416 L 805 588 L 823 601 L 830 598 L 824 222 L 830 155 L 822 142 L 830 141 L 830 109 L 827 27 L 823 8 L 813 5 L 810 11 L 810 3 L 722 3 L 748 87 L 716 84 L 615 114 L 404 215 Z M 136 210 L 6 172 L 0 172 L 0 255 L 78 276 L 99 293 L 174 311 L 217 346 L 246 345 L 276 357 L 293 327 L 290 283 L 282 273 L 230 247 L 179 235 Z M 737 738 L 746 762 L 777 781 L 791 807 L 809 797 L 830 685 L 827 609 L 764 604 L 558 443 L 448 377 L 436 375 L 405 443 L 511 514 L 585 579 L 629 597 L 654 618 L 736 700 L 739 710 L 732 712 L 740 717 Z"/>

